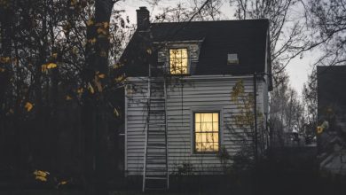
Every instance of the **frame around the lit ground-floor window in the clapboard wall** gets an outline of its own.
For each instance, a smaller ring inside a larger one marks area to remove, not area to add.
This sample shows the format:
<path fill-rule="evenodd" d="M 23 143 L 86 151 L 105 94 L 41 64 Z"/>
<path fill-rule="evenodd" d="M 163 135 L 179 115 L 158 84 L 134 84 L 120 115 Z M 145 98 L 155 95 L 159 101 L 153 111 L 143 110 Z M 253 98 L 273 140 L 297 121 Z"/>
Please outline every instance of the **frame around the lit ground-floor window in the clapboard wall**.
<path fill-rule="evenodd" d="M 195 118 L 195 113 L 218 113 L 218 149 L 217 151 L 197 151 L 196 150 L 196 118 Z M 211 154 L 215 154 L 220 152 L 220 148 L 221 148 L 221 111 L 220 110 L 195 110 L 193 111 L 193 153 L 211 153 Z"/>

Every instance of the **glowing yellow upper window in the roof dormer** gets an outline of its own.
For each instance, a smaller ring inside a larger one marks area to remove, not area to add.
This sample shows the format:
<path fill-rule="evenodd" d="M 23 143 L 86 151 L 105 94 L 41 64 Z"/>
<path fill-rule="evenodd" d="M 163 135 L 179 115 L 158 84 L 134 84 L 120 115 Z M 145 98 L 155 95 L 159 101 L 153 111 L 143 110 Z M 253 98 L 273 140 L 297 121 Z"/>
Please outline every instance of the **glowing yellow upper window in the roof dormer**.
<path fill-rule="evenodd" d="M 169 50 L 169 72 L 170 74 L 187 74 L 187 49 Z"/>

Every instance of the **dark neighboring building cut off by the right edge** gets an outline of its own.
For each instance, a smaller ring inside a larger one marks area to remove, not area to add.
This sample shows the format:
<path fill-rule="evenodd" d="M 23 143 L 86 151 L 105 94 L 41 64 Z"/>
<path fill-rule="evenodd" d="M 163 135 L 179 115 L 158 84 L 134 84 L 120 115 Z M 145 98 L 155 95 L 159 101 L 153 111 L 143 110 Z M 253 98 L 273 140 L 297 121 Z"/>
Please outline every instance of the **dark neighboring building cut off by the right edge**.
<path fill-rule="evenodd" d="M 346 175 L 346 66 L 318 66 L 320 168 Z"/>

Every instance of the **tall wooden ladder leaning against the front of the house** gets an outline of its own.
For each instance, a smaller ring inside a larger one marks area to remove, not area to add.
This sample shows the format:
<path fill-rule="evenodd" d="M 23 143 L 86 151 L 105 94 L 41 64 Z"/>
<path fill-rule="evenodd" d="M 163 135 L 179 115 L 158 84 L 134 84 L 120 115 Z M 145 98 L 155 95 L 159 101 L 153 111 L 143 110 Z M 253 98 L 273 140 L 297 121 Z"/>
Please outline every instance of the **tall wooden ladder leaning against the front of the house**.
<path fill-rule="evenodd" d="M 158 69 L 149 66 L 142 191 L 169 189 L 167 90 Z"/>

